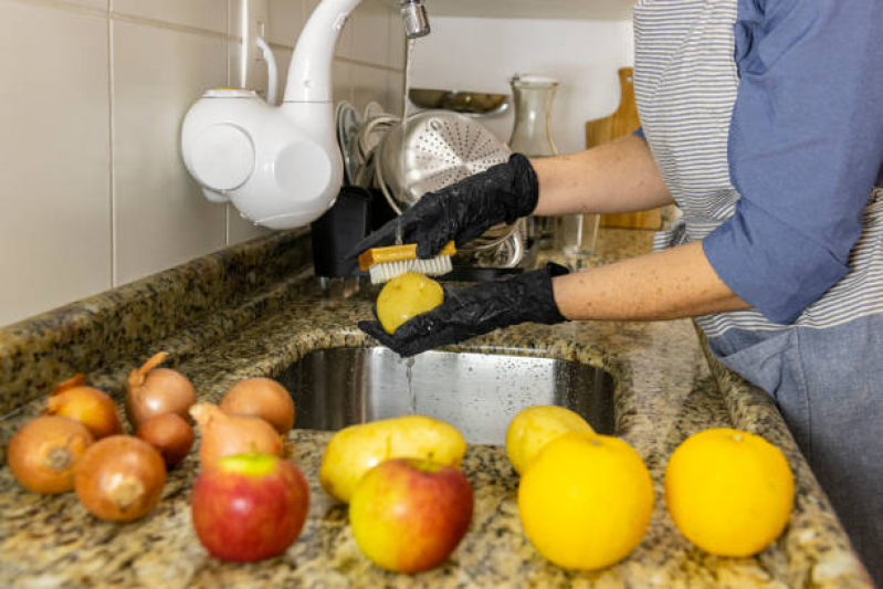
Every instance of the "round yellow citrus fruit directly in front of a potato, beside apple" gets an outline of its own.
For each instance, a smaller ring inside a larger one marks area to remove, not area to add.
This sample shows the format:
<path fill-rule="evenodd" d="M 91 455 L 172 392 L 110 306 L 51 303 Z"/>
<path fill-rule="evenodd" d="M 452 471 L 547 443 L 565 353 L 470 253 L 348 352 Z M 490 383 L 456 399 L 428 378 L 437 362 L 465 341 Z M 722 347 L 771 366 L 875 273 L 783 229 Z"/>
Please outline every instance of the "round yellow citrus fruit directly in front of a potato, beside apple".
<path fill-rule="evenodd" d="M 618 438 L 565 433 L 522 476 L 518 513 L 527 538 L 555 565 L 603 568 L 628 556 L 647 532 L 650 472 Z"/>

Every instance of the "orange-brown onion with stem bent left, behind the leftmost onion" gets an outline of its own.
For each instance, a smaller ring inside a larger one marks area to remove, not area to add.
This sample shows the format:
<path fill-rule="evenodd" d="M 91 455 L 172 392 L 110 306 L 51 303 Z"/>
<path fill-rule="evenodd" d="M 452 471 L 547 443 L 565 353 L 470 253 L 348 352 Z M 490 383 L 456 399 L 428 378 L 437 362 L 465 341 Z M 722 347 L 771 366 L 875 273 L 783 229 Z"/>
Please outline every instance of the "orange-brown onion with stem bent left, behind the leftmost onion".
<path fill-rule="evenodd" d="M 57 385 L 46 404 L 46 414 L 71 418 L 78 421 L 99 440 L 123 433 L 123 423 L 116 403 L 111 397 L 92 387 L 85 387 L 82 374 Z"/>

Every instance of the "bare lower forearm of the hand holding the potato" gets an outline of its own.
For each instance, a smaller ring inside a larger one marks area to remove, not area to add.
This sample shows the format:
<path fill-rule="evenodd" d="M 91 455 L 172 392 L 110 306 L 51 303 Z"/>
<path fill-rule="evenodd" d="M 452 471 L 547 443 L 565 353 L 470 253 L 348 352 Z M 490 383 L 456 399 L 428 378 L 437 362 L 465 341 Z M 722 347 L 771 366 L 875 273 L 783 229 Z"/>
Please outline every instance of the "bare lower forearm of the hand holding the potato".
<path fill-rule="evenodd" d="M 748 308 L 708 264 L 702 242 L 687 243 L 553 278 L 568 319 L 654 320 Z"/>

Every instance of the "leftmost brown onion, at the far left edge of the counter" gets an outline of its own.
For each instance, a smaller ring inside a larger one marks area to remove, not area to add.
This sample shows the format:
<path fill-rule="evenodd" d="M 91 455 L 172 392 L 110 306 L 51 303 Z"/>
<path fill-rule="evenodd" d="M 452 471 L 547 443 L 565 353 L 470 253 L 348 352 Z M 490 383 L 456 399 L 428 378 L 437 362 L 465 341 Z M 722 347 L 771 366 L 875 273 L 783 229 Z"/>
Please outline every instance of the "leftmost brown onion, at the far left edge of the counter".
<path fill-rule="evenodd" d="M 12 476 L 35 493 L 74 487 L 74 471 L 94 438 L 73 419 L 44 416 L 25 423 L 7 446 Z"/>

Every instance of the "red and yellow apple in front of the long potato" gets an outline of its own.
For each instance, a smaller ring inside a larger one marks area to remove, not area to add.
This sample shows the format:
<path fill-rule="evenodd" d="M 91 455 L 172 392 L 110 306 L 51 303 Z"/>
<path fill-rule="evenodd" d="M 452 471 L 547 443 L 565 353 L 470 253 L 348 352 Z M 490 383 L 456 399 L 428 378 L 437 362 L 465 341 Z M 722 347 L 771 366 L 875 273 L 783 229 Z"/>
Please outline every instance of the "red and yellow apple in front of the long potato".
<path fill-rule="evenodd" d="M 349 502 L 356 544 L 397 572 L 431 569 L 450 555 L 472 520 L 472 485 L 452 466 L 396 459 L 359 481 Z"/>

